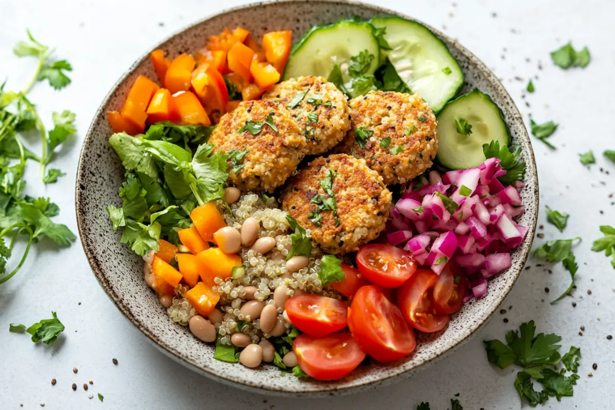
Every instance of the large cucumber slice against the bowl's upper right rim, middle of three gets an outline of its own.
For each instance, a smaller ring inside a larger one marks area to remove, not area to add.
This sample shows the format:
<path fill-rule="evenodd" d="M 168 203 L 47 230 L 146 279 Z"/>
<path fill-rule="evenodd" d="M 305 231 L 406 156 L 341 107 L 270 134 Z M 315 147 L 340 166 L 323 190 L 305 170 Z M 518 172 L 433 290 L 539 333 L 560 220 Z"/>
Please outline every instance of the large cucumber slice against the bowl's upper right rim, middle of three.
<path fill-rule="evenodd" d="M 389 61 L 410 90 L 421 95 L 437 114 L 463 85 L 457 60 L 442 40 L 420 23 L 401 17 L 375 17 L 371 23 L 386 28 Z"/>

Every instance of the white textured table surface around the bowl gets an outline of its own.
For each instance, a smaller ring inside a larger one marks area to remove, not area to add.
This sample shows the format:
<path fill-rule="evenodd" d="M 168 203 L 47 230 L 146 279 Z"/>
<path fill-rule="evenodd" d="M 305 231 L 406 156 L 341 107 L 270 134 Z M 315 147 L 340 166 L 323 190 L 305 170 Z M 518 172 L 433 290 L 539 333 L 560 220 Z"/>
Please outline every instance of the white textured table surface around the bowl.
<path fill-rule="evenodd" d="M 74 175 L 85 130 L 116 79 L 141 53 L 194 20 L 223 7 L 244 4 L 226 0 L 3 0 L 0 6 L 0 80 L 9 77 L 8 89 L 20 89 L 29 79 L 35 62 L 12 54 L 15 42 L 25 38 L 26 28 L 39 41 L 57 47 L 57 55 L 71 61 L 73 84 L 54 92 L 36 85 L 31 100 L 49 124 L 52 111 L 77 113 L 79 133 L 62 149 L 57 165 L 67 175 L 47 187 L 37 181 L 38 169 L 30 165 L 26 192 L 49 195 L 60 205 L 57 221 L 77 231 L 74 219 Z M 491 323 L 456 352 L 411 379 L 353 396 L 296 400 L 248 394 L 188 371 L 145 342 L 98 286 L 77 241 L 58 251 L 36 246 L 18 275 L 0 287 L 0 409 L 413 409 L 429 401 L 434 410 L 450 408 L 449 399 L 459 393 L 466 409 L 519 409 L 513 387 L 517 369 L 494 368 L 486 360 L 483 339 L 504 337 L 510 328 L 535 320 L 539 331 L 563 336 L 582 349 L 581 379 L 574 397 L 554 398 L 554 409 L 612 408 L 615 378 L 615 271 L 603 254 L 590 251 L 601 236 L 600 224 L 615 225 L 615 207 L 608 195 L 615 191 L 615 166 L 601 156 L 615 149 L 613 118 L 615 46 L 609 0 L 415 0 L 378 1 L 383 7 L 412 15 L 445 31 L 485 61 L 502 79 L 517 101 L 524 119 L 533 114 L 538 122 L 560 123 L 549 151 L 534 141 L 541 187 L 540 224 L 544 240 L 581 236 L 575 248 L 579 272 L 573 297 L 555 306 L 549 301 L 569 283 L 560 266 L 526 270 L 510 294 L 508 313 L 496 313 Z M 563 71 L 552 65 L 549 52 L 570 39 L 580 48 L 588 45 L 592 62 L 586 69 Z M 542 69 L 539 68 L 542 66 Z M 528 79 L 536 92 L 523 97 Z M 37 147 L 37 149 L 40 149 Z M 583 167 L 578 153 L 593 149 L 597 164 Z M 609 170 L 611 175 L 600 171 Z M 560 234 L 547 226 L 544 206 L 571 214 Z M 551 290 L 546 294 L 545 288 Z M 589 295 L 589 290 L 592 294 Z M 576 302 L 576 307 L 572 302 Z M 77 305 L 81 302 L 81 306 Z M 512 306 L 512 309 L 509 309 Z M 28 335 L 9 333 L 9 323 L 30 325 L 58 312 L 66 331 L 53 346 L 34 345 Z M 508 318 L 509 323 L 503 323 Z M 579 326 L 584 325 L 583 335 Z M 117 358 L 119 365 L 111 363 Z M 592 363 L 598 369 L 592 372 Z M 73 367 L 79 373 L 73 374 Z M 54 378 L 55 386 L 50 384 Z M 90 390 L 82 384 L 92 379 Z M 76 383 L 76 392 L 71 384 Z M 94 393 L 88 400 L 87 393 Z M 104 403 L 96 393 L 105 396 Z M 527 405 L 525 405 L 527 406 Z"/>

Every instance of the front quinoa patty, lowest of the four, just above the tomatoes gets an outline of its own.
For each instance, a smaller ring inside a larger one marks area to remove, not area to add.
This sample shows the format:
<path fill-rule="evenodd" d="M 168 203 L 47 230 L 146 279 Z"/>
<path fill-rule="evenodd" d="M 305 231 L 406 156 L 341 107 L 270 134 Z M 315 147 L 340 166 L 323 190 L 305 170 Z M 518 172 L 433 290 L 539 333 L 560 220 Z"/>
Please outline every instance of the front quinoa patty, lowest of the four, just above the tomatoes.
<path fill-rule="evenodd" d="M 322 203 L 319 199 L 330 197 L 323 185 L 331 180 L 331 172 L 335 211 L 316 212 Z M 311 230 L 312 239 L 325 252 L 333 254 L 357 250 L 359 245 L 376 239 L 391 206 L 391 192 L 382 177 L 370 170 L 365 160 L 346 154 L 313 160 L 290 179 L 281 199 L 282 208 Z M 315 219 L 320 219 L 320 226 Z"/>

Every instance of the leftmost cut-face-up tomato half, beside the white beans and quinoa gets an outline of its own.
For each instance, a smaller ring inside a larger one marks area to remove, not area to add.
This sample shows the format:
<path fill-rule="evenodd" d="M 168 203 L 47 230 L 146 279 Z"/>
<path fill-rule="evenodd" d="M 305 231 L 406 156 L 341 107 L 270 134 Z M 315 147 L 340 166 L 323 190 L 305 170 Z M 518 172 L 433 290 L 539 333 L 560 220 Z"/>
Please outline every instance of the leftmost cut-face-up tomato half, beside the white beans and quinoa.
<path fill-rule="evenodd" d="M 325 336 L 346 327 L 348 306 L 338 299 L 317 294 L 301 294 L 285 304 L 288 318 L 300 331 Z"/>

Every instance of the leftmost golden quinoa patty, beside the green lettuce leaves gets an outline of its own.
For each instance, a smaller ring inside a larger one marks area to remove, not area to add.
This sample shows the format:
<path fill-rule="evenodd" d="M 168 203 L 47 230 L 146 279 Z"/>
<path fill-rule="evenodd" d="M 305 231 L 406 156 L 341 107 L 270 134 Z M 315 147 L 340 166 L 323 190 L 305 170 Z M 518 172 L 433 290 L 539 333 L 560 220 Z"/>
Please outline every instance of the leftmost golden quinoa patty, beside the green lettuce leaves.
<path fill-rule="evenodd" d="M 264 124 L 270 116 L 277 131 Z M 250 131 L 260 132 L 254 134 Z M 212 132 L 209 142 L 216 151 L 239 151 L 247 149 L 231 170 L 232 184 L 242 191 L 269 191 L 284 184 L 296 170 L 304 156 L 306 138 L 287 109 L 273 101 L 242 101 L 232 112 L 224 114 L 218 127 Z M 239 168 L 241 167 L 241 168 Z M 239 168 L 239 169 L 237 169 Z"/>

